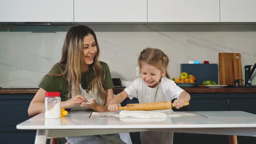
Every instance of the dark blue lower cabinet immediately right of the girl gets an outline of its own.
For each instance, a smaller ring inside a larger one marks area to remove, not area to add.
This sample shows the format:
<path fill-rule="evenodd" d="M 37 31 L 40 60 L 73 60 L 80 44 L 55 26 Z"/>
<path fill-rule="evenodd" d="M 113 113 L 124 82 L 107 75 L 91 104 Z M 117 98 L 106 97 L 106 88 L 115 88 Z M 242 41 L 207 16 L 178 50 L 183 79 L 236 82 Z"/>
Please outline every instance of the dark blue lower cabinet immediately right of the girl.
<path fill-rule="evenodd" d="M 198 93 L 190 94 L 191 99 L 188 106 L 181 109 L 173 108 L 173 111 L 228 111 L 228 93 Z M 173 143 L 197 143 L 197 144 L 226 144 L 229 138 L 226 135 L 189 134 L 174 133 Z"/>

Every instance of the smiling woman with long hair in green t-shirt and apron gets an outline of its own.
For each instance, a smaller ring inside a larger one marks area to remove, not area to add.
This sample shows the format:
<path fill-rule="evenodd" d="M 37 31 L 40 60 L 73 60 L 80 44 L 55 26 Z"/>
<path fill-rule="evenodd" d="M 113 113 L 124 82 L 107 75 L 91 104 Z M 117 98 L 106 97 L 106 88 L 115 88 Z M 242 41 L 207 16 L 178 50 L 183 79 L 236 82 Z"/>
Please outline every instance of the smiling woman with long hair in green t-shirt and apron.
<path fill-rule="evenodd" d="M 87 26 L 69 28 L 62 47 L 61 61 L 43 77 L 28 107 L 28 115 L 44 112 L 45 92 L 61 92 L 63 109 L 107 111 L 114 97 L 114 86 L 108 65 L 98 61 L 99 53 L 92 29 Z M 90 99 L 92 101 L 86 103 Z M 124 143 L 118 134 L 66 139 L 69 143 Z"/>

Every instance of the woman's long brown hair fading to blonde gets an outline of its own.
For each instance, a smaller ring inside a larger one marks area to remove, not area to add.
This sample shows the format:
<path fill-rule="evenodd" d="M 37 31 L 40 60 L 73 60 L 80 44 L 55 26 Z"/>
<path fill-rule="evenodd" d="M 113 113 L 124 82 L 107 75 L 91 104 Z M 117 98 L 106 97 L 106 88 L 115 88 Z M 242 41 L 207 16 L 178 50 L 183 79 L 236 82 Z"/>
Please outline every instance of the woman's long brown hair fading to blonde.
<path fill-rule="evenodd" d="M 107 99 L 107 93 L 103 86 L 105 73 L 100 62 L 98 61 L 100 49 L 96 35 L 91 28 L 82 25 L 72 26 L 69 28 L 66 34 L 62 47 L 61 61 L 53 66 L 61 66 L 63 68 L 63 70 L 61 69 L 62 73 L 47 74 L 50 76 L 63 76 L 68 81 L 68 99 L 70 99 L 72 95 L 77 95 L 80 93 L 79 85 L 82 82 L 82 69 L 85 64 L 83 53 L 84 37 L 89 34 L 94 36 L 97 45 L 97 53 L 91 67 L 93 69 L 94 79 L 89 84 L 86 91 L 88 93 L 90 90 L 92 90 L 92 92 L 97 93 L 102 100 Z"/>

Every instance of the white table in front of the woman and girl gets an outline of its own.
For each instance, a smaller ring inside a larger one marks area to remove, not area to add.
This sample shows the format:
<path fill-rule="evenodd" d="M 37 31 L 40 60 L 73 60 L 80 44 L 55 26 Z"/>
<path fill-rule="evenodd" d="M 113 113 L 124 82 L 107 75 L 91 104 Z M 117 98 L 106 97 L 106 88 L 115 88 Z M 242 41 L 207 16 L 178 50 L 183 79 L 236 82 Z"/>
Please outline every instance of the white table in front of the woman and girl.
<path fill-rule="evenodd" d="M 113 134 L 135 131 L 256 136 L 256 115 L 243 111 L 197 111 L 202 118 L 89 118 L 90 112 L 71 112 L 60 119 L 45 119 L 40 113 L 16 125 L 36 129 L 35 143 L 67 136 Z"/>

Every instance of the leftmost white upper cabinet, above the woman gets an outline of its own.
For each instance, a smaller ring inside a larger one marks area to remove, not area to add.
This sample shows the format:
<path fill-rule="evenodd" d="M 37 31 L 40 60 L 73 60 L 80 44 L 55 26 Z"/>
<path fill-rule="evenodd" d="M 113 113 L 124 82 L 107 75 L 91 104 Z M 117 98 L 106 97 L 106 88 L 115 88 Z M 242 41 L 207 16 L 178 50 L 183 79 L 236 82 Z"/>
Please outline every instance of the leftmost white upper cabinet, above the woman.
<path fill-rule="evenodd" d="M 73 22 L 73 0 L 1 0 L 0 22 Z"/>

